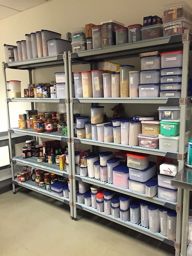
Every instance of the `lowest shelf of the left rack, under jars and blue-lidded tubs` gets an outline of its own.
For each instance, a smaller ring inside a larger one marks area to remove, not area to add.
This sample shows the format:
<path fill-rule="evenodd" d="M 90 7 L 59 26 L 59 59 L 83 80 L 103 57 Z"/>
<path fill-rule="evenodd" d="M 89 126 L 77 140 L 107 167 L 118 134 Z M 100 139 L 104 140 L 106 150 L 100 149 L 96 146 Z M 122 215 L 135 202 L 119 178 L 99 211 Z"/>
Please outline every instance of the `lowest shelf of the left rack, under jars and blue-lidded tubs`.
<path fill-rule="evenodd" d="M 38 192 L 40 194 L 43 194 L 45 196 L 49 196 L 51 198 L 54 198 L 56 200 L 59 200 L 65 204 L 70 204 L 70 199 L 69 198 L 64 198 L 63 196 L 56 196 L 51 192 L 51 189 L 46 190 L 45 187 L 40 187 L 38 185 L 36 185 L 36 183 L 32 180 L 26 180 L 25 182 L 20 182 L 17 181 L 17 179 L 13 180 L 13 183 L 19 186 L 22 186 L 24 188 L 28 188 L 30 190 L 33 190 L 35 192 Z"/>

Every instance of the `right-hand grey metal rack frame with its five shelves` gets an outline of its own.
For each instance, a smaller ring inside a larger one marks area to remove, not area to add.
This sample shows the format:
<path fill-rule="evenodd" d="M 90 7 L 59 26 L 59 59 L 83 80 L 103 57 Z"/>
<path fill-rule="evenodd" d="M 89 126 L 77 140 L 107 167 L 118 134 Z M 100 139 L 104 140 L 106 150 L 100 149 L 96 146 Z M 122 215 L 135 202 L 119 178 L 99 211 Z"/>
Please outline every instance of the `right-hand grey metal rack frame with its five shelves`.
<path fill-rule="evenodd" d="M 178 198 L 176 204 L 171 203 L 166 204 L 163 200 L 160 200 L 156 197 L 154 198 L 146 198 L 144 195 L 133 193 L 130 190 L 123 190 L 117 188 L 112 184 L 107 184 L 107 182 L 101 182 L 100 180 L 91 179 L 88 177 L 80 177 L 75 173 L 75 143 L 88 144 L 93 146 L 102 146 L 105 148 L 116 148 L 119 150 L 128 150 L 133 152 L 142 152 L 148 153 L 156 156 L 167 156 L 169 158 L 175 158 L 178 160 L 178 169 L 182 170 L 184 167 L 184 158 L 186 154 L 186 147 L 184 145 L 184 137 L 186 130 L 186 106 L 189 104 L 190 100 L 187 97 L 187 87 L 188 87 L 188 62 L 189 62 L 189 52 L 191 48 L 191 35 L 188 30 L 185 30 L 184 34 L 179 34 L 175 36 L 167 36 L 162 38 L 150 39 L 150 40 L 142 40 L 134 43 L 98 48 L 93 50 L 87 50 L 83 52 L 68 52 L 68 64 L 69 64 L 69 88 L 70 88 L 70 115 L 71 120 L 73 118 L 73 106 L 76 103 L 89 103 L 89 104 L 99 104 L 99 103 L 125 103 L 125 104 L 164 104 L 168 106 L 180 106 L 180 140 L 179 140 L 179 152 L 164 152 L 160 150 L 150 150 L 142 147 L 131 147 L 124 146 L 121 144 L 114 143 L 105 143 L 98 142 L 93 140 L 86 139 L 77 139 L 74 138 L 74 128 L 73 123 L 71 122 L 71 147 L 72 147 L 72 175 L 73 175 L 73 201 L 74 201 L 74 219 L 76 219 L 76 208 L 80 208 L 86 210 L 88 212 L 92 212 L 93 214 L 99 215 L 103 218 L 107 218 L 108 220 L 112 220 L 116 223 L 123 224 L 129 228 L 137 230 L 140 233 L 147 234 L 148 236 L 152 236 L 158 240 L 164 241 L 166 243 L 175 246 L 175 255 L 180 256 L 180 244 L 181 244 L 181 228 L 182 228 L 182 204 L 183 204 L 183 190 L 178 189 Z M 138 57 L 141 52 L 151 52 L 158 50 L 160 52 L 168 52 L 174 50 L 183 50 L 183 68 L 182 68 L 182 92 L 181 98 L 73 98 L 72 92 L 72 66 L 74 64 L 78 64 L 78 62 L 89 61 L 94 65 L 96 62 L 115 60 L 120 58 L 128 58 L 128 57 Z M 110 190 L 114 190 L 117 192 L 121 192 L 124 194 L 129 194 L 134 196 L 135 198 L 140 198 L 144 200 L 148 200 L 150 202 L 155 202 L 156 204 L 164 205 L 168 208 L 175 208 L 177 211 L 177 230 L 176 230 L 176 241 L 172 242 L 167 238 L 162 238 L 159 233 L 151 233 L 148 232 L 146 228 L 143 228 L 140 225 L 133 225 L 130 222 L 123 222 L 120 219 L 113 218 L 111 216 L 106 216 L 105 214 L 96 211 L 92 207 L 86 207 L 84 204 L 78 204 L 76 202 L 76 180 L 83 180 L 84 182 L 95 184 L 104 188 L 108 188 Z"/>

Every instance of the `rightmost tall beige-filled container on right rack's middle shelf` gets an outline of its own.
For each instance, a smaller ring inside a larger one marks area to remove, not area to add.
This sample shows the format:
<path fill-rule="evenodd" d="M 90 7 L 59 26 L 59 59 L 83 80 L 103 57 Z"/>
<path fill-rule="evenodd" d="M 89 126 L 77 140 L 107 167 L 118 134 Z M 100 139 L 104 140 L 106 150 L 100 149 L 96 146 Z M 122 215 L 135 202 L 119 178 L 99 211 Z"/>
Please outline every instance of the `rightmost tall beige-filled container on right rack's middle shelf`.
<path fill-rule="evenodd" d="M 141 122 L 130 121 L 129 125 L 129 145 L 138 146 L 138 135 L 141 133 Z"/>

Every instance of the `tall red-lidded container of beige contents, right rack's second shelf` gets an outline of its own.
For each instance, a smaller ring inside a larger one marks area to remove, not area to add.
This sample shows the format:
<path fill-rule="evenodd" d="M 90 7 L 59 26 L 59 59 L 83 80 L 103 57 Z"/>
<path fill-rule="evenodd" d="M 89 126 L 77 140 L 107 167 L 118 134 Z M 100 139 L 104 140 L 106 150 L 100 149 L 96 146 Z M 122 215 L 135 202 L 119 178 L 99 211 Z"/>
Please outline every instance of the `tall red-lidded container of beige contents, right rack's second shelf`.
<path fill-rule="evenodd" d="M 92 98 L 92 76 L 91 71 L 82 71 L 82 88 L 83 88 L 83 98 Z"/>

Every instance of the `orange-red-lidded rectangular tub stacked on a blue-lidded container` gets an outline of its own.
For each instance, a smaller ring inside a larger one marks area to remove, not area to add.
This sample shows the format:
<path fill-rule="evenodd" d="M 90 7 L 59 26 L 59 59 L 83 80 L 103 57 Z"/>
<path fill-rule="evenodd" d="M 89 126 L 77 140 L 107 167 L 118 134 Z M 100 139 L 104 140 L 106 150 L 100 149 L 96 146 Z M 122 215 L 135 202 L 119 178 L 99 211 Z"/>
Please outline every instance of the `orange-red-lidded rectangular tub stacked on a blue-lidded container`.
<path fill-rule="evenodd" d="M 127 153 L 127 166 L 138 170 L 144 170 L 149 166 L 148 154 L 130 154 Z"/>

